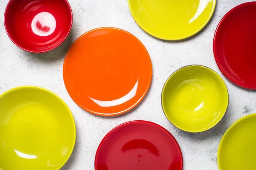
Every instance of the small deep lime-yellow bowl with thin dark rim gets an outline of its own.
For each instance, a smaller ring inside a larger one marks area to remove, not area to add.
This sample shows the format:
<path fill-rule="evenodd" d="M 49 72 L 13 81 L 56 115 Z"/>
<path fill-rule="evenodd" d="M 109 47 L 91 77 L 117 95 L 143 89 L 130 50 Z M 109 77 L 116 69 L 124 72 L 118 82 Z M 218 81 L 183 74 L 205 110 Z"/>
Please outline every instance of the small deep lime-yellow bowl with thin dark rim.
<path fill-rule="evenodd" d="M 189 65 L 175 71 L 162 91 L 162 106 L 173 125 L 188 132 L 215 126 L 228 105 L 227 87 L 212 69 Z"/>

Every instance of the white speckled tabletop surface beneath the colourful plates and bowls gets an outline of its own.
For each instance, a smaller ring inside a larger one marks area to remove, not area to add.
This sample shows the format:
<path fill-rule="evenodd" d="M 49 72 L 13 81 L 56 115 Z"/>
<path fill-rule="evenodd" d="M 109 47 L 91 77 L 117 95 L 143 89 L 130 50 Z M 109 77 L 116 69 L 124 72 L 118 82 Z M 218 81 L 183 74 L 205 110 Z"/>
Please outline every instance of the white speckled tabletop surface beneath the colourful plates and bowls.
<path fill-rule="evenodd" d="M 73 9 L 73 28 L 67 40 L 45 54 L 31 54 L 17 48 L 6 34 L 3 16 L 8 0 L 0 2 L 0 94 L 22 85 L 37 85 L 58 94 L 70 107 L 76 121 L 76 146 L 61 170 L 93 170 L 94 156 L 102 138 L 116 125 L 131 120 L 148 120 L 169 130 L 180 144 L 183 170 L 218 170 L 217 149 L 225 130 L 237 119 L 256 113 L 256 91 L 237 87 L 218 69 L 212 52 L 212 40 L 218 22 L 231 8 L 249 0 L 217 0 L 212 19 L 195 36 L 168 42 L 145 33 L 132 18 L 127 0 L 69 0 Z M 65 89 L 62 66 L 71 43 L 81 34 L 97 27 L 111 26 L 131 32 L 147 48 L 153 65 L 151 88 L 139 106 L 129 113 L 105 118 L 79 108 Z M 164 116 L 160 96 L 166 79 L 184 65 L 199 64 L 215 70 L 227 84 L 230 101 L 224 119 L 203 133 L 186 133 L 174 127 Z"/>

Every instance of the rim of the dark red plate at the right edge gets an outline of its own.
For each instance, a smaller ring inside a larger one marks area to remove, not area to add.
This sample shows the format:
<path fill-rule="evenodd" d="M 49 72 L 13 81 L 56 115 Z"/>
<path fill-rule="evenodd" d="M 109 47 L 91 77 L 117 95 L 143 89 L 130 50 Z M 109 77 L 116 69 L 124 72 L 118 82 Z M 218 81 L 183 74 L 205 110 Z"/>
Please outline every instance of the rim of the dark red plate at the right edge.
<path fill-rule="evenodd" d="M 248 88 L 246 85 L 240 85 L 238 84 L 237 82 L 235 82 L 233 79 L 231 79 L 231 77 L 229 76 L 229 74 L 226 73 L 225 69 L 222 68 L 221 66 L 221 63 L 219 62 L 218 60 L 218 57 L 217 57 L 217 50 L 216 50 L 216 36 L 218 34 L 218 28 L 221 26 L 221 24 L 224 22 L 224 20 L 230 16 L 231 13 L 233 13 L 234 11 L 236 11 L 238 8 L 241 8 L 243 6 L 246 6 L 246 5 L 250 5 L 250 4 L 256 4 L 256 1 L 251 1 L 251 2 L 246 2 L 246 3 L 241 3 L 239 4 L 238 6 L 235 6 L 234 8 L 230 9 L 230 11 L 228 11 L 226 14 L 224 14 L 224 16 L 221 18 L 220 22 L 218 23 L 218 26 L 216 27 L 215 29 L 215 33 L 214 33 L 214 36 L 213 36 L 213 42 L 212 42 L 212 48 L 213 48 L 213 56 L 214 56 L 214 59 L 215 59 L 215 62 L 216 64 L 218 65 L 218 68 L 220 69 L 221 73 L 224 74 L 224 76 L 230 81 L 232 82 L 234 85 L 237 85 L 243 89 L 249 89 L 249 90 L 256 90 L 256 86 L 255 88 Z"/>

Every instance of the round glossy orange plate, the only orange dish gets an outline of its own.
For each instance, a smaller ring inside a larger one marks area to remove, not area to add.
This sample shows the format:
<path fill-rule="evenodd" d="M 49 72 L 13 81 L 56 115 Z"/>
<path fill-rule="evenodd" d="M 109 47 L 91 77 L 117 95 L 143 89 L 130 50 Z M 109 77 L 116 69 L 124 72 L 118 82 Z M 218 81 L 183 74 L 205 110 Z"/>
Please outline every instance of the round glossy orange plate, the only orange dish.
<path fill-rule="evenodd" d="M 113 116 L 143 99 L 152 66 L 146 48 L 134 35 L 118 28 L 97 28 L 70 47 L 63 76 L 68 93 L 81 108 Z"/>

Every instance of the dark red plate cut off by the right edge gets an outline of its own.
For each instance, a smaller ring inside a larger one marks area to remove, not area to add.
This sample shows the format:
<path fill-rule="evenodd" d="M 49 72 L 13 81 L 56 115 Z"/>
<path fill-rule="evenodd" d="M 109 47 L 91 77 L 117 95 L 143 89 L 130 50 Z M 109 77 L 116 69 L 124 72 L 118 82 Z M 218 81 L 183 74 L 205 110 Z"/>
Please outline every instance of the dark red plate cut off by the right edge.
<path fill-rule="evenodd" d="M 219 23 L 214 40 L 215 60 L 231 82 L 256 89 L 256 2 L 230 10 Z"/>

